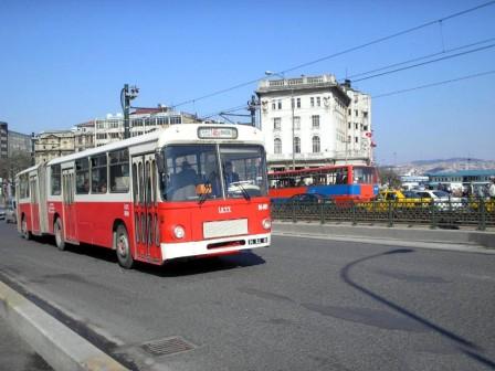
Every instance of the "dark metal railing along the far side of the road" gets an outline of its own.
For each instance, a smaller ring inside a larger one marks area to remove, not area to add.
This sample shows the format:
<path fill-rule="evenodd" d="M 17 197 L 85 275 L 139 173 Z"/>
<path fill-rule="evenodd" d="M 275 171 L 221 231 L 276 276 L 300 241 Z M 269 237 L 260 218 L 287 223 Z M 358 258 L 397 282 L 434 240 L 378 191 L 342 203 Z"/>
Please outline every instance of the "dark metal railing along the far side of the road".
<path fill-rule="evenodd" d="M 370 202 L 273 202 L 274 220 L 429 225 L 457 229 L 495 227 L 495 200 L 473 199 L 462 202 L 370 201 Z"/>

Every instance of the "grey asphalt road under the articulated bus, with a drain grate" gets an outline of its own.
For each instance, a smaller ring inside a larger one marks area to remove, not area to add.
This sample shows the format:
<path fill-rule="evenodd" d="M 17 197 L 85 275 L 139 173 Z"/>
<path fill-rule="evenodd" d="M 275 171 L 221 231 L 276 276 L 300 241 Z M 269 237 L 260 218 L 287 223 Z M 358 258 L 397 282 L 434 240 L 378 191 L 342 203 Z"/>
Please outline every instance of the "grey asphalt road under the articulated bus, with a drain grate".
<path fill-rule="evenodd" d="M 275 236 L 125 271 L 110 251 L 59 252 L 0 223 L 0 256 L 4 280 L 139 370 L 495 369 L 495 255 Z M 192 349 L 143 348 L 172 337 Z"/>

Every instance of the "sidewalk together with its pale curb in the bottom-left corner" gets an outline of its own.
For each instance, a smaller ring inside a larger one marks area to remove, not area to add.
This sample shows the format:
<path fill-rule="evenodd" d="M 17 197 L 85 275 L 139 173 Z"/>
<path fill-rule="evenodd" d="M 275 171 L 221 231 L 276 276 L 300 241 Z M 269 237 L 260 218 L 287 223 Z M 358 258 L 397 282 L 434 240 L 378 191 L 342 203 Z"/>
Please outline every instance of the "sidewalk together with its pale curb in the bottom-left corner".
<path fill-rule="evenodd" d="M 15 332 L 14 337 L 10 336 L 12 331 Z M 21 342 L 20 338 L 42 354 L 57 371 L 128 371 L 115 359 L 0 280 L 0 370 L 52 370 L 42 369 L 40 357 L 25 348 L 25 343 L 19 347 L 18 353 L 15 348 L 17 342 Z M 6 367 L 7 362 L 11 362 L 12 365 Z M 22 362 L 28 362 L 28 367 L 22 368 Z"/>

